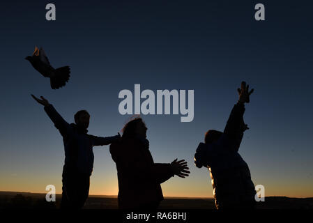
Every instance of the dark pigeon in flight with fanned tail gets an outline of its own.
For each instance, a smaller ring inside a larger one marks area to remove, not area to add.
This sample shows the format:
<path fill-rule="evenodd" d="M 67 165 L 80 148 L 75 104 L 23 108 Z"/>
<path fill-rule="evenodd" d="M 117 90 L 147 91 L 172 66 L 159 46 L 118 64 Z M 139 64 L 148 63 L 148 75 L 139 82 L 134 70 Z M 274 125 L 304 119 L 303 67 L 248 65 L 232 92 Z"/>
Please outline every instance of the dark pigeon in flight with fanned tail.
<path fill-rule="evenodd" d="M 33 68 L 35 68 L 43 77 L 50 78 L 50 85 L 52 89 L 59 89 L 66 85 L 68 79 L 70 79 L 70 67 L 64 66 L 54 69 L 50 65 L 50 62 L 43 51 L 43 47 L 35 47 L 35 51 L 32 56 L 26 56 L 25 59 L 31 62 Z"/>

